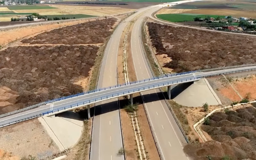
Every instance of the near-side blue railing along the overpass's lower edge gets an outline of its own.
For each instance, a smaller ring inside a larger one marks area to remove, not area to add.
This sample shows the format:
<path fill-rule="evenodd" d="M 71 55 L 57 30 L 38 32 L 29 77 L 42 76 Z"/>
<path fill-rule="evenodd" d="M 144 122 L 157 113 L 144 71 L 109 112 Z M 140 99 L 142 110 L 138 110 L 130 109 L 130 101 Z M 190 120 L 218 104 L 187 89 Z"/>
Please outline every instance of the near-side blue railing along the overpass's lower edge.
<path fill-rule="evenodd" d="M 72 108 L 72 107 L 78 107 L 80 105 L 87 105 L 89 103 L 92 103 L 92 102 L 97 102 L 98 100 L 107 100 L 108 98 L 110 97 L 116 97 L 116 96 L 122 96 L 122 95 L 126 95 L 126 94 L 132 94 L 134 92 L 143 92 L 145 89 L 150 89 L 150 88 L 159 88 L 159 87 L 164 87 L 164 86 L 168 86 L 168 85 L 173 85 L 173 84 L 177 84 L 177 83 L 180 83 L 180 82 L 187 82 L 187 81 L 193 81 L 193 80 L 196 80 L 196 79 L 201 79 L 201 78 L 205 78 L 205 77 L 211 77 L 211 76 L 219 76 L 219 75 L 222 75 L 222 74 L 230 74 L 230 73 L 237 73 L 237 72 L 243 72 L 243 71 L 252 71 L 252 70 L 256 70 L 256 68 L 253 68 L 253 69 L 241 69 L 241 70 L 237 70 L 237 71 L 229 71 L 229 72 L 224 72 L 224 73 L 216 73 L 216 74 L 211 74 L 211 75 L 205 75 L 205 76 L 197 76 L 197 77 L 194 77 L 194 78 L 186 78 L 185 80 L 180 80 L 180 81 L 172 81 L 172 82 L 168 82 L 168 83 L 163 83 L 163 84 L 158 84 L 158 85 L 150 85 L 148 87 L 141 87 L 141 88 L 138 88 L 138 89 L 134 89 L 134 90 L 129 90 L 129 91 L 126 91 L 126 92 L 121 92 L 121 93 L 117 93 L 117 94 L 111 94 L 111 95 L 107 95 L 107 96 L 104 96 L 104 97 L 100 97 L 98 99 L 93 99 L 93 100 L 87 100 L 87 101 L 84 101 L 82 103 L 76 103 L 76 104 L 73 104 L 73 105 L 70 105 L 70 106 L 65 106 L 65 107 L 62 107 L 62 108 L 57 108 L 55 110 L 51 110 L 51 111 L 47 111 L 47 112 L 43 112 L 39 115 L 35 115 L 35 116 L 28 116 L 26 118 L 22 118 L 22 119 L 19 119 L 19 120 L 16 120 L 16 121 L 13 121 L 13 122 L 10 122 L 10 123 L 6 123 L 6 124 L 2 124 L 0 125 L 0 128 L 1 127 L 4 127 L 4 126 L 7 126 L 7 125 L 10 125 L 10 124 L 15 124 L 15 123 L 19 123 L 19 122 L 22 122 L 24 120 L 28 120 L 28 119 L 33 119 L 33 118 L 36 118 L 36 117 L 39 117 L 39 116 L 44 116 L 46 114 L 49 114 L 49 113 L 54 113 L 54 112 L 59 112 L 61 110 L 66 110 L 68 108 Z M 161 77 L 156 77 L 155 79 L 160 79 L 164 76 L 161 76 Z M 149 78 L 150 79 L 150 78 Z M 141 82 L 141 81 L 140 81 Z M 145 82 L 145 81 L 144 81 Z M 132 83 L 131 83 L 132 84 Z M 116 85 L 116 86 L 119 86 L 119 85 Z M 120 87 L 120 86 L 119 86 Z M 90 92 L 90 91 L 89 91 Z M 51 100 L 50 100 L 51 101 Z"/>

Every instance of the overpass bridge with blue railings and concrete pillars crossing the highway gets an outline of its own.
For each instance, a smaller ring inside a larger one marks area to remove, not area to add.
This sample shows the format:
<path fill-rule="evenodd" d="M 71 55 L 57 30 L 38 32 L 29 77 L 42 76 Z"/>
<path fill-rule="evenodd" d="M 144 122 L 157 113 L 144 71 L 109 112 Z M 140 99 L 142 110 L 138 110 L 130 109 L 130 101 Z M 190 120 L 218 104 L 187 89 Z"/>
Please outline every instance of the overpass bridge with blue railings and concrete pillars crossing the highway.
<path fill-rule="evenodd" d="M 168 98 L 171 98 L 171 85 L 188 83 L 197 81 L 201 78 L 218 76 L 222 74 L 230 74 L 236 72 L 252 71 L 256 70 L 256 66 L 246 66 L 237 68 L 221 68 L 221 69 L 209 69 L 190 71 L 179 74 L 168 74 L 160 77 L 154 77 L 150 79 L 143 79 L 136 82 L 119 84 L 106 88 L 100 88 L 89 92 L 82 92 L 67 97 L 62 97 L 54 100 L 49 100 L 28 108 L 23 108 L 12 113 L 0 115 L 0 128 L 11 124 L 16 124 L 28 119 L 44 115 L 55 115 L 61 112 L 65 112 L 71 109 L 89 106 L 90 104 L 98 103 L 101 101 L 131 95 L 138 92 L 144 92 L 160 87 L 168 87 Z M 90 118 L 90 107 L 88 108 L 88 117 Z"/>

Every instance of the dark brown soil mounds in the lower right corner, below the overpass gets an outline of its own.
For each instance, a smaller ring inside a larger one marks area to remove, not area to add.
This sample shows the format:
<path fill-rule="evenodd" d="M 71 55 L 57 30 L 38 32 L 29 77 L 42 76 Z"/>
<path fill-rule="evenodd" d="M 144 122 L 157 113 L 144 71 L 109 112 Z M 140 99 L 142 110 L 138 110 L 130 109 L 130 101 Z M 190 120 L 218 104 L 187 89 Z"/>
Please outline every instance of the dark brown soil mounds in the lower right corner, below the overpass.
<path fill-rule="evenodd" d="M 255 116 L 256 108 L 252 106 L 235 111 L 216 112 L 210 116 L 210 124 L 201 127 L 211 136 L 213 141 L 193 147 L 187 146 L 185 150 L 188 152 L 194 150 L 194 156 L 197 158 L 210 155 L 216 160 L 224 156 L 229 156 L 232 159 L 255 159 Z"/>

